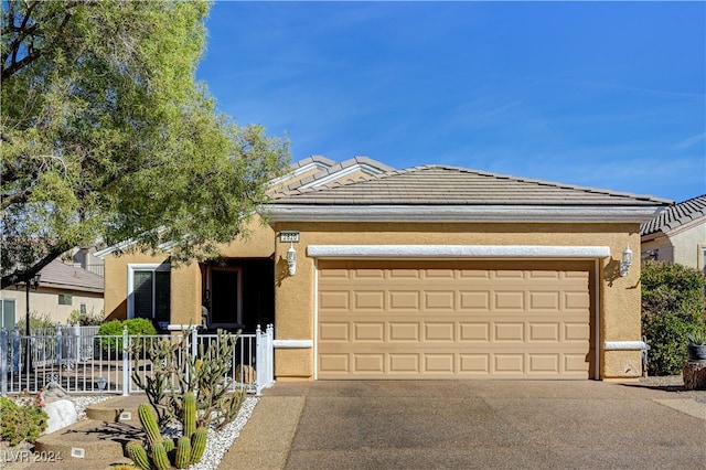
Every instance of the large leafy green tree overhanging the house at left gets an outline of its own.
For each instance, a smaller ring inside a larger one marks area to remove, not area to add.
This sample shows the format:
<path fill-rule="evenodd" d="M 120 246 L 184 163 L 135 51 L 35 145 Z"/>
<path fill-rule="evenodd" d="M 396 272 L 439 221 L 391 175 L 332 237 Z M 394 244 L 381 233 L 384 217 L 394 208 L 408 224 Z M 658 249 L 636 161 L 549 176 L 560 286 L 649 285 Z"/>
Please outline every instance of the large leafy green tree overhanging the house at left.
<path fill-rule="evenodd" d="M 213 256 L 267 202 L 288 142 L 218 114 L 206 1 L 2 2 L 2 287 L 74 246 Z"/>

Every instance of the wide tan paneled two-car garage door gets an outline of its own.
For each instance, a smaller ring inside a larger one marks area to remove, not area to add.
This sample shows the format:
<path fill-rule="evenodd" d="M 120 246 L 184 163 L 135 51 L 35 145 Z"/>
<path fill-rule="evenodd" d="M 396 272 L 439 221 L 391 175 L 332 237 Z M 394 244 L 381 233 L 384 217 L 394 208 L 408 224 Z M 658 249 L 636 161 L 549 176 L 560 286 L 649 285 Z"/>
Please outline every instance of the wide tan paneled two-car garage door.
<path fill-rule="evenodd" d="M 318 378 L 588 378 L 590 264 L 321 260 Z"/>

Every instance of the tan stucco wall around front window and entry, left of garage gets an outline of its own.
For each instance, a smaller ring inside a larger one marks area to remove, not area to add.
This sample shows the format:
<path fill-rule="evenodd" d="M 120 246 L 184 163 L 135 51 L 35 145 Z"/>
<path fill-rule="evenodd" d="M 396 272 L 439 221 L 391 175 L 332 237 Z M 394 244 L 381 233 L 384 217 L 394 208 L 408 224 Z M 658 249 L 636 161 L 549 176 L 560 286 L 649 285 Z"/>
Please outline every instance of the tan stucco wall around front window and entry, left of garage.
<path fill-rule="evenodd" d="M 221 246 L 223 257 L 267 258 L 275 249 L 275 232 L 259 217 L 247 226 L 245 235 Z M 169 254 L 131 253 L 105 258 L 105 311 L 108 319 L 127 318 L 128 266 L 130 264 L 169 264 Z M 199 263 L 179 264 L 171 269 L 172 324 L 201 323 L 201 270 Z"/>

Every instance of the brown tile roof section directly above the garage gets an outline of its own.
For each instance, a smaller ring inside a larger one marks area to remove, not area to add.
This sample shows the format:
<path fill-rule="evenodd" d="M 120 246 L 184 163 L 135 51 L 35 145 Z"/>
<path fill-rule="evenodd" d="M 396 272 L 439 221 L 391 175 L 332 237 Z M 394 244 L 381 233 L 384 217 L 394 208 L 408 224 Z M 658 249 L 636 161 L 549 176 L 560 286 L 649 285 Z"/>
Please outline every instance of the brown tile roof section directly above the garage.
<path fill-rule="evenodd" d="M 364 181 L 279 194 L 274 204 L 668 205 L 649 195 L 581 188 L 447 165 L 394 170 Z"/>

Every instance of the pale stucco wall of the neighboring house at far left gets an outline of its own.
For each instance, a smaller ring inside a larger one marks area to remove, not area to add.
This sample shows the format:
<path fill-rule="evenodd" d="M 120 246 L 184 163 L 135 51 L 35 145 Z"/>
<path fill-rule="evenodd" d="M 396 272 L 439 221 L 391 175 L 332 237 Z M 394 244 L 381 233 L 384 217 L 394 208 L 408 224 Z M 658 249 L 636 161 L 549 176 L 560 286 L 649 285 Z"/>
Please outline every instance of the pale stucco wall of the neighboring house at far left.
<path fill-rule="evenodd" d="M 58 295 L 72 296 L 71 306 L 60 306 Z M 26 317 L 26 291 L 23 287 L 19 290 L 10 287 L 0 291 L 0 298 L 14 299 L 15 321 L 20 322 Z M 79 310 L 81 305 L 86 305 L 88 314 L 99 314 L 104 309 L 103 295 L 100 292 L 84 292 L 79 290 L 52 289 L 40 286 L 38 290 L 30 290 L 30 313 L 47 316 L 54 323 L 66 324 L 74 310 Z"/>

